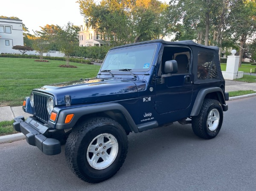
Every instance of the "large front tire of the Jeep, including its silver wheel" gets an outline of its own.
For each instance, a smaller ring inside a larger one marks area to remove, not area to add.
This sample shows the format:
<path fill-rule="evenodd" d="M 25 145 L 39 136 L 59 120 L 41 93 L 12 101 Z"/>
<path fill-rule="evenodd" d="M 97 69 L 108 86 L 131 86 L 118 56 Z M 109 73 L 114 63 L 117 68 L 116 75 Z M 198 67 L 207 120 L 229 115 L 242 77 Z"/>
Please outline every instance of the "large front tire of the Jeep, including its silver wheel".
<path fill-rule="evenodd" d="M 70 133 L 65 156 L 77 177 L 97 183 L 121 168 L 128 151 L 125 130 L 115 120 L 95 117 L 77 125 Z"/>

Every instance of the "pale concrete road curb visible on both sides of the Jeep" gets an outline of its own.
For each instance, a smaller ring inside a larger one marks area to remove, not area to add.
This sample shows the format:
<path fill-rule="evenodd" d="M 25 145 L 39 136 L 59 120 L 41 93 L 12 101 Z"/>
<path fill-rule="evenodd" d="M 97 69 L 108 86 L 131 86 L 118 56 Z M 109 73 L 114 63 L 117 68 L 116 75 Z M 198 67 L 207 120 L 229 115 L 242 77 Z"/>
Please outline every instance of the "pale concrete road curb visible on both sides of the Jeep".
<path fill-rule="evenodd" d="M 256 96 L 256 93 L 230 97 L 229 100 L 230 101 L 231 100 L 238 100 L 238 99 L 241 99 L 241 98 L 253 97 L 253 96 Z M 0 144 L 10 143 L 10 142 L 13 142 L 13 141 L 18 141 L 18 140 L 23 140 L 23 139 L 26 139 L 26 137 L 25 137 L 25 135 L 23 135 L 23 133 L 4 135 L 4 136 L 0 136 Z"/>

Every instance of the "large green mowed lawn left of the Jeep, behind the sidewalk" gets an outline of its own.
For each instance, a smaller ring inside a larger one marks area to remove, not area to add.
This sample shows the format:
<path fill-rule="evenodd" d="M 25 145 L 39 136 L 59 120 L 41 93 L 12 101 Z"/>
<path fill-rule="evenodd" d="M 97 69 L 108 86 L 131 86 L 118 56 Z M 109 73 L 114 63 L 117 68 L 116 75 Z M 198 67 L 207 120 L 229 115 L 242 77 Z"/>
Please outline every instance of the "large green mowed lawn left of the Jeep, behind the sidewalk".
<path fill-rule="evenodd" d="M 96 77 L 99 66 L 70 63 L 78 68 L 61 68 L 65 61 L 35 62 L 28 58 L 0 57 L 0 106 L 19 106 L 33 88 L 80 78 Z"/>

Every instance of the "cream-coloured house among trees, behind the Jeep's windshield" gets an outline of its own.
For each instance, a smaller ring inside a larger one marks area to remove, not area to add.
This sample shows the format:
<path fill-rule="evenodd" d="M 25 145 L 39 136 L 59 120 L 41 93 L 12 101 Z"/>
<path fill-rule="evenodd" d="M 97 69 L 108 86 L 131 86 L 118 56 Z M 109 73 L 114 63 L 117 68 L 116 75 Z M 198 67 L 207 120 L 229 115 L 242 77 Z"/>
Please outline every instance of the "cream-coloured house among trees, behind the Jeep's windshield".
<path fill-rule="evenodd" d="M 103 46 L 108 43 L 102 40 L 102 35 L 98 34 L 91 26 L 87 27 L 84 23 L 79 31 L 79 46 Z"/>

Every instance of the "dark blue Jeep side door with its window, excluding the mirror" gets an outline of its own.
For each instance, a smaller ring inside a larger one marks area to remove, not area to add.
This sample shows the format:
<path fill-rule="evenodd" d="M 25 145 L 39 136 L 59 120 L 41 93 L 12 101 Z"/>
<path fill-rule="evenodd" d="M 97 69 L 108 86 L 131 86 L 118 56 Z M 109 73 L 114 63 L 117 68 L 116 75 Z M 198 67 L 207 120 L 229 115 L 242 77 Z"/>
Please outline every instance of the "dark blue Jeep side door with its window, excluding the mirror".
<path fill-rule="evenodd" d="M 177 73 L 163 75 L 165 74 L 164 64 L 167 60 L 177 61 Z M 191 73 L 191 51 L 189 48 L 164 47 L 155 91 L 155 108 L 158 114 L 189 107 L 193 90 L 193 75 Z"/>

